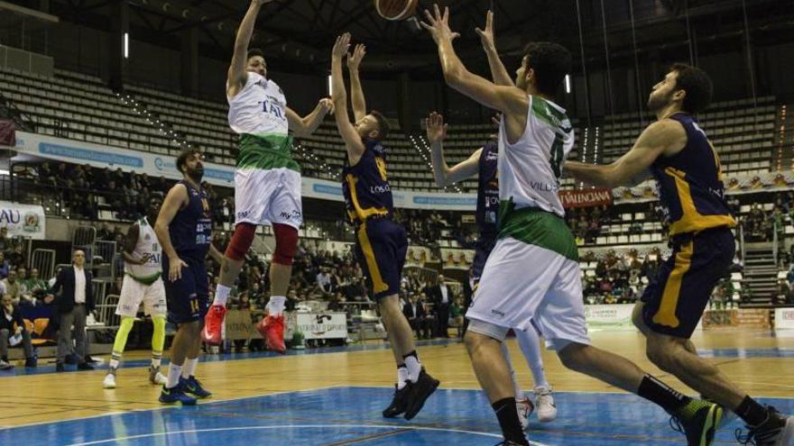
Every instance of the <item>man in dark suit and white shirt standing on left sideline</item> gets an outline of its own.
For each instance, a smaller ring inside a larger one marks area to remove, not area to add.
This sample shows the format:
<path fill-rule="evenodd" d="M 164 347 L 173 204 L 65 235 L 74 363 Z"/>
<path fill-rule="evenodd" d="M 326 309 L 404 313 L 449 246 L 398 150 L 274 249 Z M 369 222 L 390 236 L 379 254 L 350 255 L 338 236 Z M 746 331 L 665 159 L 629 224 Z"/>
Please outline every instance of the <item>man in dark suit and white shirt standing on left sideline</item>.
<path fill-rule="evenodd" d="M 47 302 L 55 301 L 57 306 L 60 328 L 58 330 L 58 360 L 57 371 L 64 371 L 64 361 L 71 350 L 72 332 L 74 325 L 75 352 L 78 356 L 79 370 L 93 370 L 86 362 L 86 316 L 94 310 L 94 289 L 91 286 L 91 271 L 84 268 L 86 254 L 82 250 L 75 250 L 72 255 L 72 267 L 60 271 L 55 284 L 50 289 Z M 60 296 L 57 298 L 58 292 Z"/>

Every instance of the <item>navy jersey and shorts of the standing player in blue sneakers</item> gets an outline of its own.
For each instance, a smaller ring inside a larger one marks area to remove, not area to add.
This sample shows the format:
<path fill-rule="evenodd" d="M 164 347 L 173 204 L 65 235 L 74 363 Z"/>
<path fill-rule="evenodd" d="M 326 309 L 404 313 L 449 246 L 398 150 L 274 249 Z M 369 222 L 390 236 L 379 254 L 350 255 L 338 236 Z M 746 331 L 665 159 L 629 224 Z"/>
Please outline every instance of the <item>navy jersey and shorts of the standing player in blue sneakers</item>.
<path fill-rule="evenodd" d="M 168 279 L 169 259 L 162 256 L 162 275 L 165 280 L 165 297 L 168 303 L 168 321 L 189 323 L 204 319 L 209 308 L 209 286 L 204 259 L 212 242 L 207 192 L 180 181 L 188 189 L 189 203 L 174 215 L 168 232 L 171 244 L 180 259 L 188 264 L 182 268 L 182 277 Z"/>

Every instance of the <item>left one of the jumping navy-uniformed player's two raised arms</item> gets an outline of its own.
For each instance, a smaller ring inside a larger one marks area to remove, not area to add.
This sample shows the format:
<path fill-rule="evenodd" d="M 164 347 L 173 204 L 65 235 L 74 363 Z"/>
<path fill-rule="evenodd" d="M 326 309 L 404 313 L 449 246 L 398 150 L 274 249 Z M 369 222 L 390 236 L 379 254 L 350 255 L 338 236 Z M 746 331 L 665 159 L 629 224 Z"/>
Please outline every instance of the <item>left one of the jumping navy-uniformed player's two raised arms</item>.
<path fill-rule="evenodd" d="M 331 52 L 331 99 L 334 101 L 339 136 L 345 141 L 347 159 L 351 166 L 355 166 L 361 155 L 364 154 L 364 142 L 361 136 L 355 131 L 355 127 L 347 117 L 347 91 L 345 89 L 345 78 L 342 77 L 342 59 L 350 48 L 350 34 L 345 33 L 337 37 L 334 49 Z"/>

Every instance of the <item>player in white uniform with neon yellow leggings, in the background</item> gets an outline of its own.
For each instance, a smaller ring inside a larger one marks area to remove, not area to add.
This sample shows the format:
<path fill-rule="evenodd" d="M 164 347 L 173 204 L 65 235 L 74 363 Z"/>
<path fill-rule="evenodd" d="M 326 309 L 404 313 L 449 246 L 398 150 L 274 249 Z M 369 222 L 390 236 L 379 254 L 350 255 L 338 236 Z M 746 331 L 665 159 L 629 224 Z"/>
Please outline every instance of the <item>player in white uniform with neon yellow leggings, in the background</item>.
<path fill-rule="evenodd" d="M 121 286 L 121 296 L 115 307 L 115 314 L 121 316 L 121 324 L 115 333 L 113 351 L 110 354 L 110 368 L 102 386 L 115 388 L 115 376 L 124 353 L 127 336 L 133 328 L 138 307 L 143 303 L 143 311 L 152 318 L 152 365 L 149 367 L 149 382 L 165 384 L 165 376 L 160 373 L 162 346 L 165 342 L 165 287 L 162 284 L 162 248 L 152 223 L 160 213 L 162 198 L 152 196 L 146 216 L 130 225 L 127 230 L 124 250 L 125 277 Z"/>

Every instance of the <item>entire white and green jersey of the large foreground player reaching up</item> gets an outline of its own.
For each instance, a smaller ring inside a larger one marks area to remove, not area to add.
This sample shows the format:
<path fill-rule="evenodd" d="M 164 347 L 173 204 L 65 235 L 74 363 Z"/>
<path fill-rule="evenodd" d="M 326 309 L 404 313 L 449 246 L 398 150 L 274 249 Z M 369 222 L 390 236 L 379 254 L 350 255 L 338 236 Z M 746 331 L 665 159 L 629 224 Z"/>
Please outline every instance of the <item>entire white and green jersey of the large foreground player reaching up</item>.
<path fill-rule="evenodd" d="M 562 165 L 574 145 L 574 132 L 565 109 L 538 96 L 529 96 L 527 127 L 519 141 L 507 141 L 504 120 L 499 125 L 499 237 L 577 259 L 577 245 L 563 220 L 559 199 Z"/>

